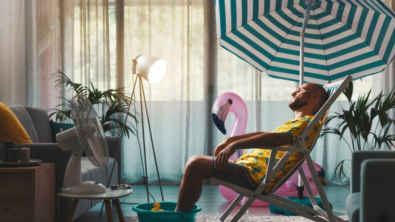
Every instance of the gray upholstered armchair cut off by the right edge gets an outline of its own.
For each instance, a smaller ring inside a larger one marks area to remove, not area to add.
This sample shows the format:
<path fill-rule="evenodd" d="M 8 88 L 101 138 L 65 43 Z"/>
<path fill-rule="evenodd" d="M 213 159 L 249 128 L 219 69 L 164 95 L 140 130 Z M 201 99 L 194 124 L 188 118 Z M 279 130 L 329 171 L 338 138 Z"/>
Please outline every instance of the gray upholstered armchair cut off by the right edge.
<path fill-rule="evenodd" d="M 349 221 L 395 221 L 395 151 L 354 151 L 351 164 Z"/>

